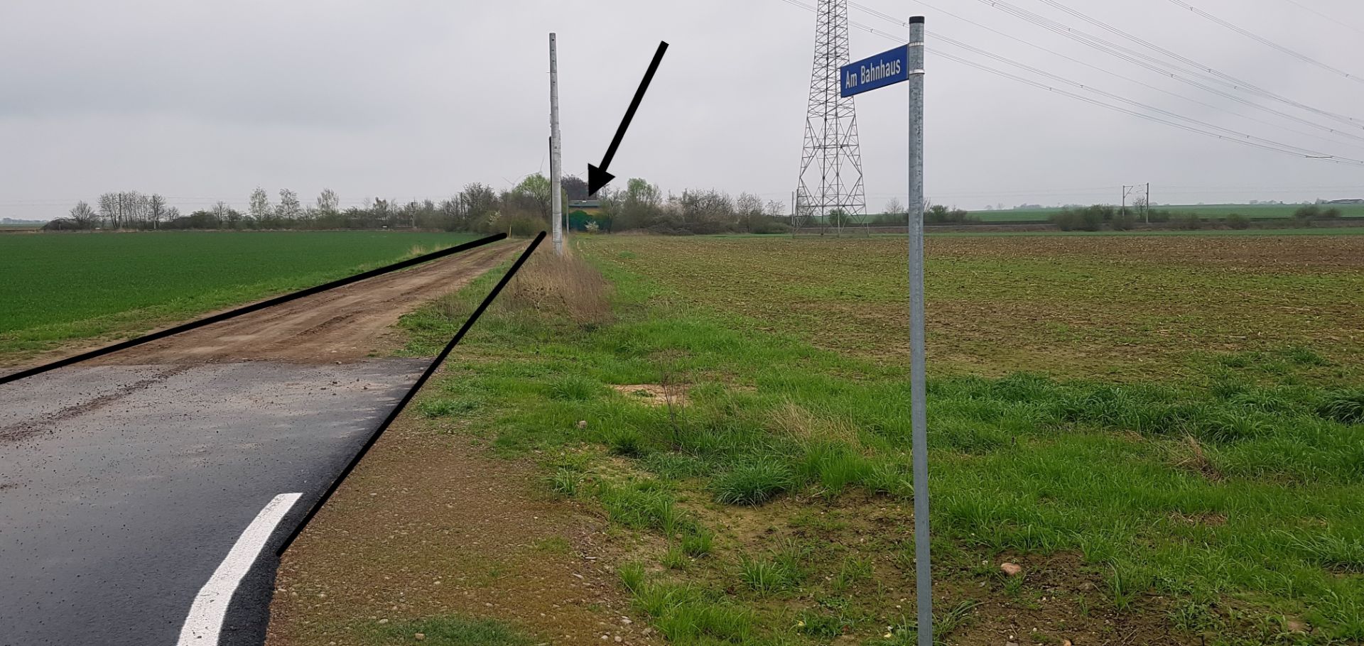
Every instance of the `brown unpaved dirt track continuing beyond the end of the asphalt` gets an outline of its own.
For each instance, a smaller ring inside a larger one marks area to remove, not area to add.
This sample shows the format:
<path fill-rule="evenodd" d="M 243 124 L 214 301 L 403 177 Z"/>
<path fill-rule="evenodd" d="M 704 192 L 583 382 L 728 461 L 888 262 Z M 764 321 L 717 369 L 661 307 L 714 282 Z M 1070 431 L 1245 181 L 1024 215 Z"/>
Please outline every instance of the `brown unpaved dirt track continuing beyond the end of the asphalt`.
<path fill-rule="evenodd" d="M 520 251 L 494 244 L 117 352 L 97 364 L 351 363 L 401 345 L 390 326 Z"/>

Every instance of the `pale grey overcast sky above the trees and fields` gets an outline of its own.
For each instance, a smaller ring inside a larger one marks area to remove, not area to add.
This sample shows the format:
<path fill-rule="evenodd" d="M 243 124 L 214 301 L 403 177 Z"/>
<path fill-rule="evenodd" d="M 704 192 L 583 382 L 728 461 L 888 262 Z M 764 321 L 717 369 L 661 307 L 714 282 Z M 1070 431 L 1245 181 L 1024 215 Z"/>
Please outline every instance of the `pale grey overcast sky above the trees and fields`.
<path fill-rule="evenodd" d="M 1118 40 L 1043 0 L 1011 1 Z M 1060 1 L 1293 101 L 1364 119 L 1364 83 L 1170 0 Z M 1364 75 L 1364 3 L 1184 1 Z M 1364 198 L 1364 168 L 1256 150 L 1088 105 L 945 60 L 934 49 L 1067 87 L 932 38 L 1329 154 L 1364 159 L 1364 127 L 1334 123 L 1338 132 L 1329 132 L 1256 112 L 979 0 L 933 0 L 934 8 L 857 4 L 929 16 L 926 183 L 934 202 L 973 209 L 1114 202 L 1121 184 L 1146 181 L 1163 203 Z M 857 8 L 851 19 L 885 33 L 904 30 Z M 271 195 L 292 188 L 308 202 L 330 187 L 342 203 L 375 195 L 441 198 L 469 181 L 505 187 L 548 170 L 548 31 L 559 34 L 566 172 L 585 176 L 587 164 L 600 159 L 664 40 L 671 48 L 611 170 L 672 191 L 720 188 L 786 202 L 799 164 L 813 29 L 810 11 L 782 0 L 5 0 L 0 215 L 56 217 L 78 199 L 94 202 L 117 189 L 160 192 L 192 210 L 220 199 L 240 207 L 256 185 Z M 854 59 L 895 45 L 857 27 L 851 41 Z M 858 98 L 873 210 L 904 194 L 906 95 L 898 87 Z M 1269 99 L 1248 101 L 1331 124 Z"/>

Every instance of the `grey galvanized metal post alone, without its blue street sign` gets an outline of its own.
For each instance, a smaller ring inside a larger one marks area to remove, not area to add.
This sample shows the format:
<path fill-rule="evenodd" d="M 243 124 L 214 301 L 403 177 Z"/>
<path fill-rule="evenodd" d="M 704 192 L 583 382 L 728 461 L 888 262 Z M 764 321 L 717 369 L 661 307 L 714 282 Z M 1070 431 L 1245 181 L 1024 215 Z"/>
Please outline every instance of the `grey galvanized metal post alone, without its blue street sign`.
<path fill-rule="evenodd" d="M 933 646 L 929 564 L 928 388 L 923 365 L 923 16 L 910 18 L 910 416 L 914 450 L 914 574 L 919 646 Z"/>

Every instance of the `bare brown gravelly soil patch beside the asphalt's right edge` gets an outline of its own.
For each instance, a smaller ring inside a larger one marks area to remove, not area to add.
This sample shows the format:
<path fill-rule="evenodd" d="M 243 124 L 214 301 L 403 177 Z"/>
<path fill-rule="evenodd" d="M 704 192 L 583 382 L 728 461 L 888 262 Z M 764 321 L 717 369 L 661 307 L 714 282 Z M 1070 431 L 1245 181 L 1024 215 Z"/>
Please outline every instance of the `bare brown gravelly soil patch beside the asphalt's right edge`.
<path fill-rule="evenodd" d="M 372 643 L 381 621 L 449 615 L 544 643 L 660 643 L 621 591 L 606 521 L 535 481 L 398 420 L 284 555 L 266 643 Z"/>

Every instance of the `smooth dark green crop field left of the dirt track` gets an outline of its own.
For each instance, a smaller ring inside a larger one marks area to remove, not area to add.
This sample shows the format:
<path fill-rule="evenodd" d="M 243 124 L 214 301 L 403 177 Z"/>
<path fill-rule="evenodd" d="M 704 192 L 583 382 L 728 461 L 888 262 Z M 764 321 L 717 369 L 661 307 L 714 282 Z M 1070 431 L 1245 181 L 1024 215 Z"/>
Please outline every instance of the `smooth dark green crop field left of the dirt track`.
<path fill-rule="evenodd" d="M 0 236 L 0 354 L 127 335 L 301 289 L 460 233 L 164 232 Z"/>

